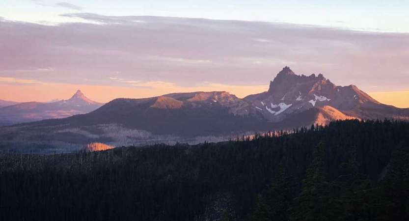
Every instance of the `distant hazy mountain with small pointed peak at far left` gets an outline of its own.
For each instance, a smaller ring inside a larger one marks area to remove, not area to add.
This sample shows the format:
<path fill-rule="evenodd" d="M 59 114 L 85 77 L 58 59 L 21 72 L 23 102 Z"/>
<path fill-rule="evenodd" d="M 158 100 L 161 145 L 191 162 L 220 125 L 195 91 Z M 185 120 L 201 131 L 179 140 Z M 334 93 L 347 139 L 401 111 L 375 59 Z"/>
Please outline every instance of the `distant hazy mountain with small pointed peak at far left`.
<path fill-rule="evenodd" d="M 103 104 L 88 99 L 78 90 L 70 99 L 51 103 L 26 102 L 0 108 L 0 122 L 30 122 L 62 118 L 94 111 Z"/>

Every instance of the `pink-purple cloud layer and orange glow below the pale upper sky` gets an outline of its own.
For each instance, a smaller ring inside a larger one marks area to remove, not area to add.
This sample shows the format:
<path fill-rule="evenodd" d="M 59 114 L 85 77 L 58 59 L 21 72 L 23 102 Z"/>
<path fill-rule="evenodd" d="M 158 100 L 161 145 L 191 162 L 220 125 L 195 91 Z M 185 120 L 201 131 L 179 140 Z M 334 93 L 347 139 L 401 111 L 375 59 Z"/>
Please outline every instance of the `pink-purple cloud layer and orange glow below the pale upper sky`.
<path fill-rule="evenodd" d="M 284 66 L 409 107 L 409 35 L 282 23 L 70 14 L 98 24 L 0 19 L 0 99 L 108 102 L 171 92 L 268 89 Z M 391 92 L 395 91 L 395 92 Z"/>

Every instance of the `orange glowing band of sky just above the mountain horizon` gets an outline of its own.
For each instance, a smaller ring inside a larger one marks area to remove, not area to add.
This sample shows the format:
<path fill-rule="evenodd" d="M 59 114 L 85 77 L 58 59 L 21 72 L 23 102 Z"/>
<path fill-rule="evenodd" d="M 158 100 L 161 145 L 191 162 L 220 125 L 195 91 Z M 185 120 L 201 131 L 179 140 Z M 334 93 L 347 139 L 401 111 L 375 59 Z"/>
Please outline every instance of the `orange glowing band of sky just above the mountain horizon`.
<path fill-rule="evenodd" d="M 17 102 L 48 102 L 54 99 L 69 99 L 77 91 L 82 92 L 89 99 L 107 103 L 116 98 L 146 98 L 155 97 L 168 93 L 193 92 L 193 91 L 228 91 L 239 98 L 249 94 L 257 94 L 268 89 L 266 85 L 241 86 L 225 85 L 218 83 L 206 84 L 196 87 L 182 87 L 173 84 L 152 84 L 151 87 L 126 87 L 105 85 L 75 85 L 63 83 L 46 83 L 42 85 L 0 85 L 0 99 Z M 17 92 L 16 92 L 17 91 Z M 374 99 L 387 105 L 398 108 L 409 108 L 409 90 L 387 91 L 368 93 Z"/>

